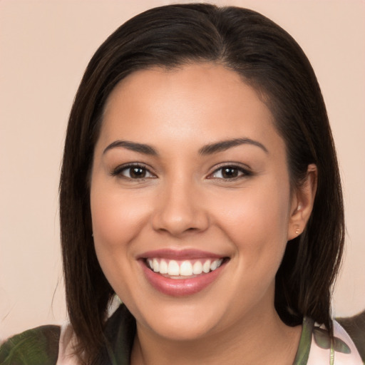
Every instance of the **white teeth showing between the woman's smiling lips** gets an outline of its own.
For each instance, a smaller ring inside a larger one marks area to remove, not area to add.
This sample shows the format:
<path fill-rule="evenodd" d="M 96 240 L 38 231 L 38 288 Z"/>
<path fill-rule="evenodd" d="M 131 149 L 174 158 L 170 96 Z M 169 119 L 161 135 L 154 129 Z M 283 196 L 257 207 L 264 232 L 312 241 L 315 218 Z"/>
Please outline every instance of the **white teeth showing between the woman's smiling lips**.
<path fill-rule="evenodd" d="M 163 259 L 160 257 L 145 259 L 145 265 L 155 273 L 170 279 L 189 279 L 197 275 L 208 274 L 220 267 L 228 258 L 220 259 Z"/>

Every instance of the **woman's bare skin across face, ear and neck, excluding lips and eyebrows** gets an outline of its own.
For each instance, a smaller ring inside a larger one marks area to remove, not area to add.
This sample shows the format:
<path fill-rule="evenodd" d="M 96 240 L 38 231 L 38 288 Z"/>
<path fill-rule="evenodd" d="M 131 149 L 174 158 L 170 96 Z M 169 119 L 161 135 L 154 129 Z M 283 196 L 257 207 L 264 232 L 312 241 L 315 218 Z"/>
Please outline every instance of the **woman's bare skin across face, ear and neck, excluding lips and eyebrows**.
<path fill-rule="evenodd" d="M 234 138 L 263 148 L 200 153 Z M 148 144 L 157 155 L 108 148 L 116 140 Z M 145 177 L 123 170 L 128 163 L 146 168 Z M 227 165 L 237 167 L 235 178 L 222 175 Z M 292 364 L 301 327 L 275 312 L 274 277 L 312 210 L 315 166 L 308 171 L 293 191 L 272 113 L 223 66 L 152 68 L 118 84 L 96 143 L 91 213 L 103 272 L 137 320 L 132 364 Z M 229 261 L 201 292 L 171 297 L 149 284 L 137 259 L 165 248 Z"/>

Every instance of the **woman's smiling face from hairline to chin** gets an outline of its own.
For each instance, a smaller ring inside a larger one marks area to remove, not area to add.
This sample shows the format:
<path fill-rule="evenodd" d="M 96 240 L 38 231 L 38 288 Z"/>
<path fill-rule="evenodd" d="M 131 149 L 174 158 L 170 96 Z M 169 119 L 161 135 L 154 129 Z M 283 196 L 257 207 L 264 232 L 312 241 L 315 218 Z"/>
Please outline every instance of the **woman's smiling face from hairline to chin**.
<path fill-rule="evenodd" d="M 237 73 L 153 68 L 108 98 L 93 237 L 140 329 L 197 339 L 273 312 L 297 204 L 272 114 Z"/>

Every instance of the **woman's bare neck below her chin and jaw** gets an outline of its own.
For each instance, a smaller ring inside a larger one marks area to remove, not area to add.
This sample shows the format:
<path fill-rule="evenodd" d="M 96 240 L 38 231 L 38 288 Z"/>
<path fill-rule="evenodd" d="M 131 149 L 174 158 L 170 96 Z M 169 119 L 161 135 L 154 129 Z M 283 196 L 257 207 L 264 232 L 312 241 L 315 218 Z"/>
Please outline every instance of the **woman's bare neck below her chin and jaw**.
<path fill-rule="evenodd" d="M 171 341 L 137 324 L 132 365 L 292 365 L 301 327 L 287 327 L 272 310 L 255 310 L 233 326 L 199 339 Z"/>

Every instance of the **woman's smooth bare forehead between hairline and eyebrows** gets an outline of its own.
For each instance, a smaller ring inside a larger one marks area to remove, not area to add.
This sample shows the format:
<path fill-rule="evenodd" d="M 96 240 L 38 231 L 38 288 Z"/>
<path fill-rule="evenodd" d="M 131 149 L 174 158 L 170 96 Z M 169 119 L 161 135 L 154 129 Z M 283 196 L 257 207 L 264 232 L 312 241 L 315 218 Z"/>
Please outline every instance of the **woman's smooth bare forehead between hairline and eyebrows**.
<path fill-rule="evenodd" d="M 110 93 L 101 139 L 181 143 L 277 134 L 269 108 L 235 71 L 215 63 L 136 71 Z M 279 137 L 277 135 L 277 137 Z M 106 143 L 107 141 L 105 141 Z"/>

